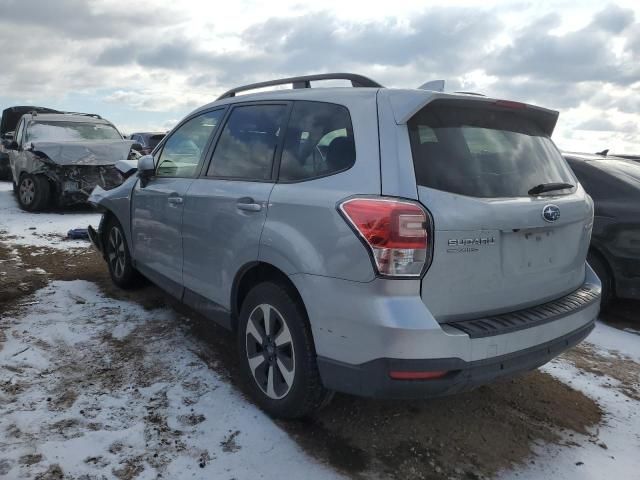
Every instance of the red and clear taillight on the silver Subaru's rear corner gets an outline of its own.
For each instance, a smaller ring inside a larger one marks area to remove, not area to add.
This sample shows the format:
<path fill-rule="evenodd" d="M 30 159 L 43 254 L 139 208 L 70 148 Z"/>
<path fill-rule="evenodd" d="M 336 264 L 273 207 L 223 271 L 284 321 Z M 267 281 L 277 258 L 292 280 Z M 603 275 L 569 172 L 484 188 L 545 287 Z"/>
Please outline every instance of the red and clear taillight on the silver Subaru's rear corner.
<path fill-rule="evenodd" d="M 340 211 L 371 251 L 380 275 L 422 275 L 430 258 L 430 218 L 418 203 L 352 198 Z"/>

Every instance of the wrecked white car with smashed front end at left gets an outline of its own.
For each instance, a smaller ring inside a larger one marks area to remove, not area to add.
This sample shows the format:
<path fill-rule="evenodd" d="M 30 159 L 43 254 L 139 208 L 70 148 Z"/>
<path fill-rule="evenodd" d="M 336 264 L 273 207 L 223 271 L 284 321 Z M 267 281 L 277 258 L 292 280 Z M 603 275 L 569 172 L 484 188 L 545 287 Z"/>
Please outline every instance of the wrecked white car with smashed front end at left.
<path fill-rule="evenodd" d="M 98 115 L 27 113 L 7 146 L 18 202 L 28 211 L 85 203 L 96 186 L 122 183 L 115 164 L 139 158 L 139 147 Z"/>

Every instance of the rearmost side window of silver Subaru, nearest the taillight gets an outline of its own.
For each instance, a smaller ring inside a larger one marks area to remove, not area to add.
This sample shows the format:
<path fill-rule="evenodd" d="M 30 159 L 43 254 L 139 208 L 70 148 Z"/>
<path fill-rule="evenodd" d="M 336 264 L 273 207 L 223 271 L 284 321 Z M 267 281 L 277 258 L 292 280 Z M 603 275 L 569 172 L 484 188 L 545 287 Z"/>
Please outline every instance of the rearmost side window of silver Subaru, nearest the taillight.
<path fill-rule="evenodd" d="M 296 102 L 287 128 L 281 181 L 299 181 L 331 175 L 356 160 L 349 111 L 340 105 Z"/>

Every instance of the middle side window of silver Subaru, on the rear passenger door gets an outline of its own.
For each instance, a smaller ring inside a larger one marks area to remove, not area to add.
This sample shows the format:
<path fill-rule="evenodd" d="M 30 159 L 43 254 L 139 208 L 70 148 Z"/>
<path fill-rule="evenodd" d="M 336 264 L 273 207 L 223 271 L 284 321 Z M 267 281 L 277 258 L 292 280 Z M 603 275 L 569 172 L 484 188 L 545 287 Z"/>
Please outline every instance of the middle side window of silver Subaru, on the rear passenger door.
<path fill-rule="evenodd" d="M 220 135 L 207 175 L 270 179 L 287 108 L 286 105 L 234 108 Z"/>

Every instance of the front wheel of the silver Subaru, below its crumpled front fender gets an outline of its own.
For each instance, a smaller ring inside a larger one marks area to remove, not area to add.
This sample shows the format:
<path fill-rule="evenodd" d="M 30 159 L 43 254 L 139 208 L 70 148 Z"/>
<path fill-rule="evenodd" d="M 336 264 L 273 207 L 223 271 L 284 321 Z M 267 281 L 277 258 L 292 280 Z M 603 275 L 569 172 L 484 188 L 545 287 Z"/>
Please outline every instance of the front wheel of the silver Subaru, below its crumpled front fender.
<path fill-rule="evenodd" d="M 140 274 L 131 261 L 124 230 L 113 217 L 106 224 L 103 245 L 111 281 L 125 290 L 139 285 Z"/>

